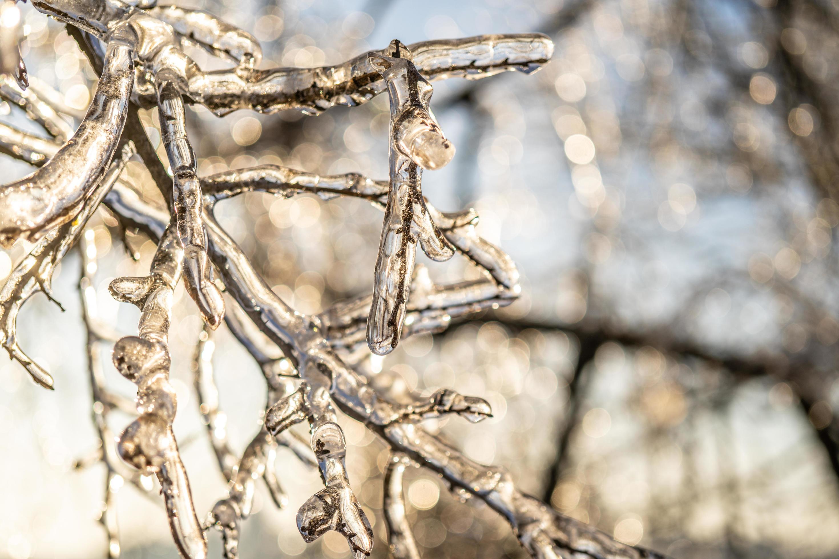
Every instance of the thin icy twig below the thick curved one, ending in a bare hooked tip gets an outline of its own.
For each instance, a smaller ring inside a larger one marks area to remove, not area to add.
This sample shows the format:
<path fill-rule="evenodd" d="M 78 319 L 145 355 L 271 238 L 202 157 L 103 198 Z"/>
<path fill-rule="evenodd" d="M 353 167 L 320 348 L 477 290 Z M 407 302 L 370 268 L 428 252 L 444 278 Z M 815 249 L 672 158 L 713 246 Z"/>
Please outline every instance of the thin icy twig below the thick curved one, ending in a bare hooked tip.
<path fill-rule="evenodd" d="M 9 276 L 8 281 L 0 291 L 0 343 L 18 363 L 23 365 L 29 375 L 39 385 L 46 388 L 53 388 L 54 380 L 50 373 L 43 367 L 34 363 L 23 353 L 18 346 L 17 318 L 21 306 L 36 292 L 44 294 L 52 299 L 52 275 L 55 267 L 64 257 L 70 247 L 76 243 L 81 235 L 87 220 L 90 219 L 96 206 L 102 202 L 108 190 L 117 181 L 122 168 L 134 153 L 132 143 L 128 143 L 122 149 L 122 154 L 107 169 L 104 178 L 91 193 L 91 196 L 84 201 L 76 219 L 50 230 L 37 245 L 34 246 L 29 255 L 20 261 L 17 267 Z"/>

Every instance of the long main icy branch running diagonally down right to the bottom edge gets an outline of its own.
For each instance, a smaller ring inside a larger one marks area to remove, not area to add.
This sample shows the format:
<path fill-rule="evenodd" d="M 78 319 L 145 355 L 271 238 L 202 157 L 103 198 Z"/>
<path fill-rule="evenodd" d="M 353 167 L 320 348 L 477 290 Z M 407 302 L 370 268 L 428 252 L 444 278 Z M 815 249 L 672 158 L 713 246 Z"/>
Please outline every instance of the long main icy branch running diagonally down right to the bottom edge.
<path fill-rule="evenodd" d="M 263 332 L 272 339 L 275 336 L 290 337 L 291 339 L 286 339 L 284 343 L 294 347 L 300 347 L 300 342 L 305 340 L 305 347 L 311 348 L 307 358 L 319 363 L 320 369 L 329 371 L 331 400 L 335 401 L 342 411 L 382 435 L 395 451 L 406 453 L 418 463 L 443 475 L 455 489 L 463 489 L 485 500 L 493 509 L 504 515 L 516 531 L 519 541 L 533 556 L 575 556 L 572 555 L 575 553 L 576 556 L 592 558 L 613 556 L 641 559 L 657 556 L 652 552 L 612 541 L 588 525 L 555 513 L 550 506 L 515 489 L 509 475 L 501 468 L 473 463 L 425 432 L 416 423 L 397 421 L 404 415 L 406 406 L 397 406 L 378 396 L 360 375 L 343 365 L 341 360 L 327 349 L 326 340 L 320 337 L 319 329 L 314 327 L 305 333 L 289 332 L 282 329 L 282 323 L 272 321 L 271 317 L 278 315 L 285 318 L 289 312 L 287 306 L 268 289 L 248 259 L 238 251 L 223 230 L 211 225 L 209 231 L 211 257 L 224 271 L 225 282 L 234 297 L 242 303 L 243 308 Z M 298 316 L 297 319 L 305 324 L 304 317 Z M 300 334 L 300 338 L 294 339 L 297 334 Z M 321 393 L 320 396 L 326 397 L 326 394 Z M 303 391 L 295 392 L 284 399 L 269 411 L 268 426 L 276 424 L 288 427 L 294 422 L 302 421 L 310 413 L 307 408 L 308 400 Z M 337 446 L 340 448 L 340 445 Z M 328 519 L 323 517 L 322 522 L 325 523 L 326 520 Z"/>

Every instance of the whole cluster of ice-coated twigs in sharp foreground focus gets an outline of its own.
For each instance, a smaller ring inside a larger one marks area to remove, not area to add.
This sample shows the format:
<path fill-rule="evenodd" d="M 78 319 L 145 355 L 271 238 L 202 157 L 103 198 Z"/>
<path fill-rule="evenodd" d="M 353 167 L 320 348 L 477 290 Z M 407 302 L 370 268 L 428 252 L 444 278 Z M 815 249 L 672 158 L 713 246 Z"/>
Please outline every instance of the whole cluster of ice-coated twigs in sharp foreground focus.
<path fill-rule="evenodd" d="M 279 444 L 320 468 L 325 486 L 298 512 L 305 541 L 339 531 L 354 556 L 369 555 L 373 531 L 347 479 L 337 408 L 393 449 L 384 498 L 393 556 L 419 556 L 402 497 L 404 468 L 412 463 L 434 470 L 452 490 L 497 510 L 533 556 L 654 556 L 555 513 L 519 492 L 503 468 L 472 462 L 422 427 L 425 418 L 447 413 L 480 421 L 490 415 L 486 401 L 442 390 L 430 398 L 415 398 L 411 405 L 397 404 L 367 384 L 362 367 L 370 351 L 386 355 L 400 337 L 446 329 L 452 318 L 504 305 L 518 296 L 513 262 L 477 236 L 474 211 L 442 213 L 423 197 L 422 170 L 440 168 L 454 155 L 430 111 L 429 81 L 456 76 L 475 80 L 507 70 L 528 74 L 550 60 L 550 39 L 541 34 L 487 35 L 408 46 L 394 40 L 386 49 L 341 65 L 258 70 L 261 51 L 255 39 L 208 13 L 119 0 L 33 0 L 33 5 L 81 32 L 81 44 L 91 62 L 102 67 L 102 76 L 85 115 L 76 115 L 55 91 L 34 78 L 30 85 L 18 50 L 18 7 L 14 0 L 5 0 L 0 8 L 0 96 L 27 111 L 51 139 L 0 124 L 0 148 L 39 167 L 0 188 L 0 244 L 11 246 L 18 238 L 37 241 L 0 293 L 0 342 L 36 382 L 53 387 L 50 374 L 18 346 L 15 322 L 21 305 L 35 292 L 50 297 L 56 265 L 81 239 L 79 289 L 88 331 L 93 416 L 103 442 L 93 459 L 107 465 L 108 485 L 121 476 L 148 491 L 150 476 L 157 476 L 181 555 L 206 557 L 206 531 L 215 527 L 222 533 L 225 555 L 236 557 L 239 526 L 250 513 L 254 484 L 260 478 L 277 505 L 285 505 L 274 471 Z M 202 71 L 183 53 L 187 40 L 232 60 L 235 67 Z M 278 166 L 202 179 L 197 175 L 186 135 L 185 103 L 200 103 L 219 116 L 237 109 L 292 108 L 316 115 L 331 106 L 361 104 L 383 91 L 388 91 L 391 115 L 388 181 L 357 174 L 318 176 Z M 171 177 L 161 173 L 132 104 L 157 106 Z M 75 132 L 59 113 L 80 121 Z M 167 209 L 140 199 L 122 175 L 130 158 L 141 158 L 149 168 L 168 200 Z M 284 198 L 300 193 L 325 199 L 352 196 L 380 207 L 384 221 L 372 295 L 338 303 L 315 316 L 290 308 L 214 218 L 218 200 L 247 191 Z M 86 223 L 102 203 L 123 226 L 143 230 L 158 243 L 148 276 L 120 277 L 110 286 L 114 298 L 141 309 L 137 336 L 115 339 L 92 304 L 96 246 Z M 482 269 L 482 277 L 436 285 L 425 268 L 414 267 L 418 244 L 434 261 L 456 253 L 466 256 Z M 220 279 L 213 277 L 216 273 Z M 227 497 L 204 522 L 195 513 L 172 429 L 176 399 L 169 384 L 168 334 L 172 293 L 181 277 L 206 323 L 195 354 L 195 387 L 219 466 L 229 480 Z M 227 313 L 223 292 L 229 295 Z M 216 428 L 221 415 L 208 339 L 222 320 L 258 361 L 268 384 L 263 427 L 241 457 L 232 453 L 219 434 L 223 430 Z M 97 348 L 111 343 L 117 370 L 137 384 L 134 402 L 104 386 Z M 106 421 L 114 408 L 136 417 L 115 448 L 108 444 L 112 434 Z M 310 424 L 310 445 L 286 431 L 302 421 Z M 112 491 L 106 494 L 111 499 Z M 116 519 L 108 506 L 102 523 L 109 536 L 108 556 L 118 556 Z"/>

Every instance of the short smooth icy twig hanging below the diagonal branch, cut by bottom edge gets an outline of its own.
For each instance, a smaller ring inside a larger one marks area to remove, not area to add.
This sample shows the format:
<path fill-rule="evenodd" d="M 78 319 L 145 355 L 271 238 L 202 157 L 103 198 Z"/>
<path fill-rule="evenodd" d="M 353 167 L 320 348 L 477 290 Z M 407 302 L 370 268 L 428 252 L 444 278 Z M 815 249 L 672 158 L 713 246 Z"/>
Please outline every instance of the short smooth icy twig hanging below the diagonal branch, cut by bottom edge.
<path fill-rule="evenodd" d="M 402 493 L 402 479 L 405 468 L 411 461 L 404 454 L 396 453 L 388 458 L 388 469 L 384 473 L 384 499 L 382 510 L 388 526 L 388 544 L 393 559 L 420 559 L 420 550 L 414 540 L 414 533 L 405 516 L 405 499 Z"/>

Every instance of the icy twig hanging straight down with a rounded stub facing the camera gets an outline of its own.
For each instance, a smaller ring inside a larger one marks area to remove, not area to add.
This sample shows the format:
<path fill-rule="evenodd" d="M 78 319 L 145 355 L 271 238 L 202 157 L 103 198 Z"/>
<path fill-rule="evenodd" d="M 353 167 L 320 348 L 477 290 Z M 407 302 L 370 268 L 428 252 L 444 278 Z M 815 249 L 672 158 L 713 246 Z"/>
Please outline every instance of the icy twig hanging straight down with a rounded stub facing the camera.
<path fill-rule="evenodd" d="M 404 45 L 396 54 L 410 55 L 404 53 Z M 430 83 L 410 60 L 370 54 L 370 63 L 388 83 L 390 184 L 367 317 L 367 345 L 374 354 L 387 355 L 402 334 L 417 242 L 432 260 L 444 261 L 454 254 L 430 219 L 420 180 L 423 168 L 449 163 L 455 148 L 430 112 Z"/>

